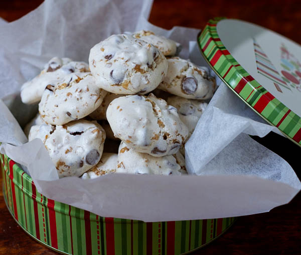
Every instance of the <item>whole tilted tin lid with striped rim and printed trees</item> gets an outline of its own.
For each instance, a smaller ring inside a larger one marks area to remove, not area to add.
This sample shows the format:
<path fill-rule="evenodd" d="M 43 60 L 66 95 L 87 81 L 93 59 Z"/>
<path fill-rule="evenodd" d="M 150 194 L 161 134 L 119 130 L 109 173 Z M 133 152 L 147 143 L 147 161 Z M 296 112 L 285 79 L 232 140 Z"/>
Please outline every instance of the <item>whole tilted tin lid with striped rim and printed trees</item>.
<path fill-rule="evenodd" d="M 225 18 L 210 20 L 198 43 L 225 84 L 301 147 L 301 46 L 271 30 Z"/>

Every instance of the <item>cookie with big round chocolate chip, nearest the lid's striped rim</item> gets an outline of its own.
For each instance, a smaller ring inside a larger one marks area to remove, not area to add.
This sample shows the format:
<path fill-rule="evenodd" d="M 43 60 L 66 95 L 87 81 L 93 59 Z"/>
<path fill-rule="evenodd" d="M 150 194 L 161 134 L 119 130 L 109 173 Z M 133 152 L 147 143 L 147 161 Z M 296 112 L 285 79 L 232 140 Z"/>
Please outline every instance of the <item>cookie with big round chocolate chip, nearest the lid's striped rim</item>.
<path fill-rule="evenodd" d="M 158 88 L 190 99 L 208 99 L 216 87 L 215 78 L 207 67 L 199 67 L 188 60 L 168 59 L 168 72 Z"/>

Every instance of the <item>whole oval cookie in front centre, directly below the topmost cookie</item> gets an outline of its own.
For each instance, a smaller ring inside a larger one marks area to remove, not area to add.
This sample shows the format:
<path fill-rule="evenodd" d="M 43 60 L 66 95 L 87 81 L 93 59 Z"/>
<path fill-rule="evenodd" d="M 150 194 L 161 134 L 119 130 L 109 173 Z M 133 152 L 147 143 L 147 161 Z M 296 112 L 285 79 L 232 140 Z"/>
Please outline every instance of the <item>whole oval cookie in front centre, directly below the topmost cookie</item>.
<path fill-rule="evenodd" d="M 177 153 L 188 137 L 188 127 L 177 109 L 152 93 L 118 97 L 108 106 L 106 116 L 116 138 L 155 157 Z"/>

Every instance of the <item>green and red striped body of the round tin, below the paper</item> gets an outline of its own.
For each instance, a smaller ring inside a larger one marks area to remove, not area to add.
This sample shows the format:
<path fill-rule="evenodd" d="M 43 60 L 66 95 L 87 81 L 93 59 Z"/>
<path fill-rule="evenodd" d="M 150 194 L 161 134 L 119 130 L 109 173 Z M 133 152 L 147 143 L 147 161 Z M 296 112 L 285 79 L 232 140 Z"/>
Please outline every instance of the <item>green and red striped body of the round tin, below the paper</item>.
<path fill-rule="evenodd" d="M 234 218 L 148 222 L 104 218 L 40 194 L 31 177 L 0 154 L 7 207 L 34 239 L 63 254 L 175 255 L 198 249 Z"/>

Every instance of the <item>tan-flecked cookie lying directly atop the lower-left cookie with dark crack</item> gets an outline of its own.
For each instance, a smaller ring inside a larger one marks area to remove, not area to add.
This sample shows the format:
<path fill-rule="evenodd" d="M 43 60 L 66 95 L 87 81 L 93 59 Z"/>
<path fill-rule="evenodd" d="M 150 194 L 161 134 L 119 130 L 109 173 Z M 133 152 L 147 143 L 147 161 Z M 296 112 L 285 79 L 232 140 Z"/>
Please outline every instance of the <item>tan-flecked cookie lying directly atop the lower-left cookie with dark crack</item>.
<path fill-rule="evenodd" d="M 62 125 L 83 118 L 100 106 L 106 91 L 91 73 L 71 73 L 56 85 L 48 85 L 39 103 L 46 124 Z"/>

